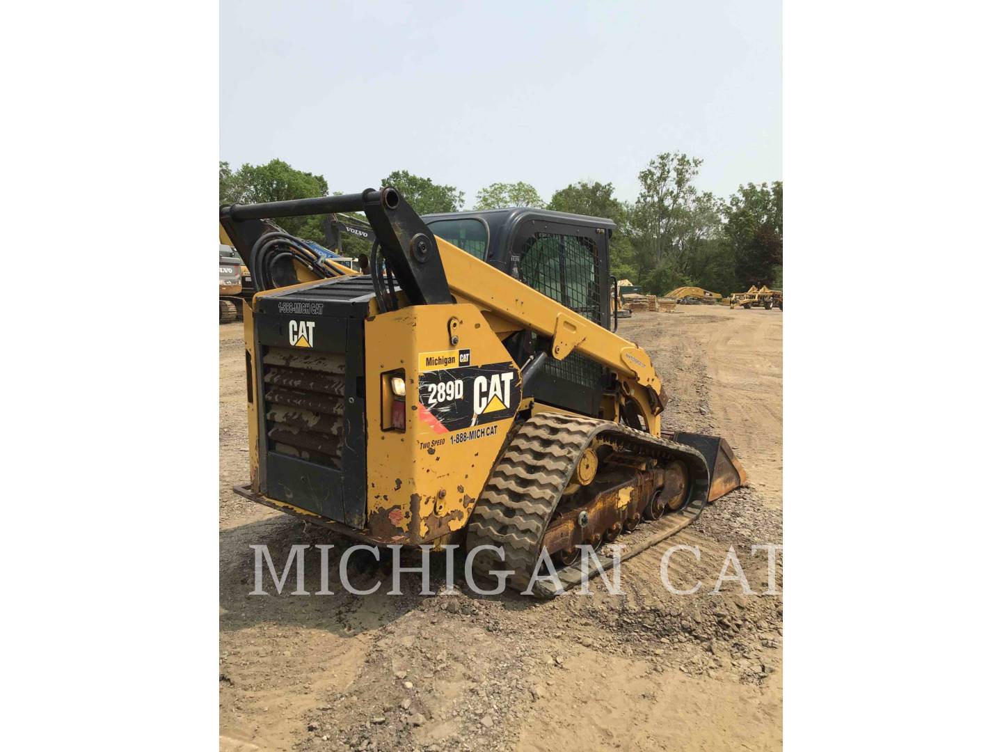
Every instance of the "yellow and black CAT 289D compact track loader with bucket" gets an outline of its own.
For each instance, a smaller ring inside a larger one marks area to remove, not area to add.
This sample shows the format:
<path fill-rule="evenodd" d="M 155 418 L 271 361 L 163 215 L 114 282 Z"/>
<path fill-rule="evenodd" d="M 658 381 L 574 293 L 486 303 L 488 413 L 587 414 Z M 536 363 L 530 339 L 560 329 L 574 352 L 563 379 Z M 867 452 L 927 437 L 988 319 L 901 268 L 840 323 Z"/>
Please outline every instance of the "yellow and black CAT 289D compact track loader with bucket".
<path fill-rule="evenodd" d="M 277 224 L 356 212 L 363 273 Z M 372 545 L 489 546 L 476 572 L 546 598 L 609 562 L 586 544 L 641 526 L 632 555 L 746 481 L 722 438 L 662 426 L 649 355 L 615 333 L 608 220 L 420 217 L 383 187 L 219 221 L 256 288 L 241 496 Z"/>

